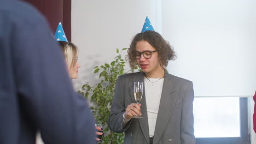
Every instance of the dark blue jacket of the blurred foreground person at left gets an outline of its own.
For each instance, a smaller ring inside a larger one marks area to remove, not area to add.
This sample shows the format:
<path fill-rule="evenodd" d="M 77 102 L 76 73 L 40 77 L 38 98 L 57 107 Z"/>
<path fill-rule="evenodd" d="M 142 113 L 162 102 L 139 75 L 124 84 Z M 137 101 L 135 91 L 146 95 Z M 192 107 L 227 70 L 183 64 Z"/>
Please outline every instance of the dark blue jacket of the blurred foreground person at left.
<path fill-rule="evenodd" d="M 60 47 L 31 5 L 0 0 L 0 143 L 96 143 L 94 119 L 75 95 Z"/>

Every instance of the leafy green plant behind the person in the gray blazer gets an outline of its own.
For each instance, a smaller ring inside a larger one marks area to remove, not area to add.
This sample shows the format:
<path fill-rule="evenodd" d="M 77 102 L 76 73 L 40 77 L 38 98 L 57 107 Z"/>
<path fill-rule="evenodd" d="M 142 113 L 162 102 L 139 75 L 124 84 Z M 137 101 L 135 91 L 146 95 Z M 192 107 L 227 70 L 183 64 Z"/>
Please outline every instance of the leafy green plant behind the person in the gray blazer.
<path fill-rule="evenodd" d="M 127 48 L 121 51 L 127 50 Z M 114 58 L 114 61 L 110 64 L 105 63 L 94 68 L 94 74 L 98 74 L 99 79 L 102 79 L 95 86 L 91 86 L 88 83 L 82 86 L 82 90 L 78 91 L 85 98 L 90 100 L 92 106 L 90 107 L 92 113 L 96 119 L 96 123 L 100 122 L 104 128 L 104 135 L 102 136 L 102 142 L 99 143 L 123 143 L 124 133 L 114 133 L 108 128 L 107 121 L 110 115 L 110 108 L 114 97 L 115 83 L 119 75 L 133 72 L 134 69 L 130 69 L 124 73 L 125 62 L 119 53 L 119 49 L 116 51 L 118 56 Z"/>

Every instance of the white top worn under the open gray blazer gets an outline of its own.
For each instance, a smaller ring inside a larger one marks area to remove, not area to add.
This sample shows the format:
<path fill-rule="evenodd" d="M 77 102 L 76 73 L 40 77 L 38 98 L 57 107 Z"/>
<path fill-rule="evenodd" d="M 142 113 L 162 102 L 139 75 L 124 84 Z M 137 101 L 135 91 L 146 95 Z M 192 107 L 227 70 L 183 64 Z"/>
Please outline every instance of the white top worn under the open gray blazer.
<path fill-rule="evenodd" d="M 151 81 L 149 81 L 149 80 Z M 147 104 L 147 113 L 148 113 L 148 126 L 149 126 L 149 136 L 154 136 L 155 133 L 155 124 L 158 117 L 158 109 L 162 94 L 162 86 L 164 85 L 164 78 L 162 79 L 153 79 L 144 77 L 145 82 L 145 95 L 146 95 L 146 104 Z M 143 99 L 143 97 L 142 97 Z M 143 117 L 143 113 L 142 113 Z M 126 119 L 123 115 L 123 125 L 130 121 Z"/>

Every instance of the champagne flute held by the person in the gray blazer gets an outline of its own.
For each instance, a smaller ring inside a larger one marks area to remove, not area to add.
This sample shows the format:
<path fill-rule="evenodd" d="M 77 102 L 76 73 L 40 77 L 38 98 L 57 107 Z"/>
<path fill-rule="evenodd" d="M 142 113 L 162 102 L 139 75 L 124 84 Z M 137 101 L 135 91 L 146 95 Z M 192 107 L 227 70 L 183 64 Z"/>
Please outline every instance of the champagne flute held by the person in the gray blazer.
<path fill-rule="evenodd" d="M 142 94 L 143 94 L 143 82 L 141 81 L 134 82 L 133 95 L 137 104 L 139 104 L 139 101 L 141 101 Z M 140 117 L 136 114 L 134 118 L 143 118 L 143 117 Z"/>

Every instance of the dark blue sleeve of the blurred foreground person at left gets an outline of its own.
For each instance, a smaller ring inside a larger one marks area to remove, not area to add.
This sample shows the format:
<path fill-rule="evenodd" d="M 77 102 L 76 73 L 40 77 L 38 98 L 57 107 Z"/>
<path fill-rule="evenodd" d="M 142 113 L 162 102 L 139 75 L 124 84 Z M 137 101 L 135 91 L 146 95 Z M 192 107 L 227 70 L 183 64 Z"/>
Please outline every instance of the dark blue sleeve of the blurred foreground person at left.
<path fill-rule="evenodd" d="M 45 143 L 96 143 L 94 118 L 75 94 L 59 45 L 39 15 L 14 25 L 11 34 L 16 88 L 22 115 Z"/>

